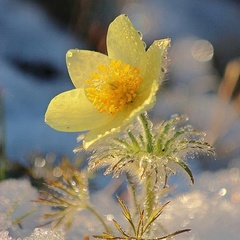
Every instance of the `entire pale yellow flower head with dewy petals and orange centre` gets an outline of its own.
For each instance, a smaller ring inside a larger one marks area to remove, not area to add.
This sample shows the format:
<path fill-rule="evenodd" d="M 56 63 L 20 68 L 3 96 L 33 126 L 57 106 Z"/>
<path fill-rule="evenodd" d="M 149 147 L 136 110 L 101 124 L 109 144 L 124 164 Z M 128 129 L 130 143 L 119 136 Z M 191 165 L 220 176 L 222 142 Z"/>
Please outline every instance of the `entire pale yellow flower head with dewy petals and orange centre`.
<path fill-rule="evenodd" d="M 157 40 L 146 51 L 128 17 L 118 16 L 107 33 L 108 56 L 77 49 L 67 52 L 67 67 L 76 89 L 51 100 L 46 123 L 64 132 L 89 131 L 83 141 L 85 149 L 120 131 L 153 106 L 169 44 L 168 38 Z"/>

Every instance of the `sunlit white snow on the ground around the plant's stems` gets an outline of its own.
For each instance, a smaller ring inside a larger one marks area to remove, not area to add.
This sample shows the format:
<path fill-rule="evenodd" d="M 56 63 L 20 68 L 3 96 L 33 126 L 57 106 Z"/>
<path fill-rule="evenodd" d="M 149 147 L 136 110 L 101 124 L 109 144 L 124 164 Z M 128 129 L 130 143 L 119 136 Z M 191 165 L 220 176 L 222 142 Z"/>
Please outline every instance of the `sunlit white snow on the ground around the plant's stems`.
<path fill-rule="evenodd" d="M 181 183 L 178 183 L 179 185 Z M 238 168 L 218 172 L 203 172 L 196 176 L 196 184 L 187 192 L 176 193 L 170 204 L 159 217 L 162 228 L 157 228 L 157 236 L 190 228 L 190 233 L 176 236 L 176 240 L 226 240 L 239 239 L 240 229 L 240 171 Z M 39 216 L 47 208 L 36 206 L 31 200 L 37 198 L 37 190 L 27 179 L 6 180 L 0 183 L 0 239 L 40 240 L 40 239 L 83 239 L 85 234 L 92 239 L 93 234 L 101 234 L 103 229 L 88 212 L 76 215 L 68 233 L 62 229 L 37 227 Z M 121 209 L 106 191 L 92 196 L 93 204 L 107 218 L 113 216 L 124 226 Z M 14 224 L 14 220 L 35 209 L 32 214 Z M 111 214 L 111 215 L 110 215 Z M 111 226 L 112 223 L 109 222 Z M 20 227 L 21 226 L 21 227 Z M 158 226 L 158 225 L 157 225 Z M 165 232 L 163 232 L 163 229 Z"/>

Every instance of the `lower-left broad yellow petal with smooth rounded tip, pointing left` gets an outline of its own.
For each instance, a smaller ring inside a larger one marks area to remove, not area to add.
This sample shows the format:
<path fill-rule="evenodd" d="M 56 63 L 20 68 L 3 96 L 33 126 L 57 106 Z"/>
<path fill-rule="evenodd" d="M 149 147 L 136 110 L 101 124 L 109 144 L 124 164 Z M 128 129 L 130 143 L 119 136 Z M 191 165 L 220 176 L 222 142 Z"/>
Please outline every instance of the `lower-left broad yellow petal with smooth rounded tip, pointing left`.
<path fill-rule="evenodd" d="M 45 122 L 64 132 L 78 132 L 99 128 L 111 121 L 111 116 L 99 113 L 86 98 L 84 89 L 63 92 L 49 103 Z"/>

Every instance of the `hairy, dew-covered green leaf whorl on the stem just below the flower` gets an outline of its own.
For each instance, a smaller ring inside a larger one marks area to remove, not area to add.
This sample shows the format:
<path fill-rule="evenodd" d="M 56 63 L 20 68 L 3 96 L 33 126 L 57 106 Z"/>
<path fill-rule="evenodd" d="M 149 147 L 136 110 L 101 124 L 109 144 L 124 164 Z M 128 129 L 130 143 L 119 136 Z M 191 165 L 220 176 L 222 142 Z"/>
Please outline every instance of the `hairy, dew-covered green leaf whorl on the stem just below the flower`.
<path fill-rule="evenodd" d="M 198 153 L 213 155 L 214 150 L 204 141 L 204 133 L 186 125 L 187 120 L 175 115 L 154 127 L 147 115 L 141 115 L 121 137 L 109 139 L 109 144 L 94 151 L 89 169 L 107 167 L 105 174 L 115 177 L 125 171 L 140 181 L 151 176 L 166 185 L 168 176 L 180 167 L 194 183 L 186 159 Z"/>

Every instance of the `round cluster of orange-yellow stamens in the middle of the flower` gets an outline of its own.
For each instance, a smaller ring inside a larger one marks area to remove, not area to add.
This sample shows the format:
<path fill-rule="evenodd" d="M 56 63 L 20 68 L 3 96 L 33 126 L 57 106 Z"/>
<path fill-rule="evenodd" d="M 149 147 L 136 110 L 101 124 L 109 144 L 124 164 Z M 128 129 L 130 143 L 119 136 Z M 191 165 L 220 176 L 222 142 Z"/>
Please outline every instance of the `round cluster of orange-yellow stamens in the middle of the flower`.
<path fill-rule="evenodd" d="M 137 90 L 142 83 L 139 70 L 120 60 L 99 65 L 98 71 L 86 83 L 87 97 L 100 112 L 116 114 L 127 104 L 133 103 Z"/>

